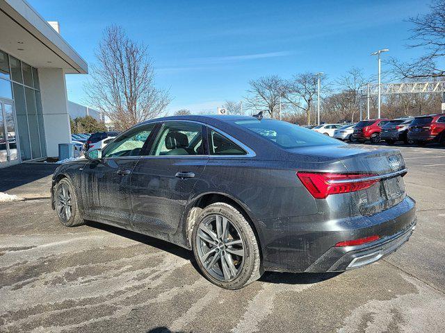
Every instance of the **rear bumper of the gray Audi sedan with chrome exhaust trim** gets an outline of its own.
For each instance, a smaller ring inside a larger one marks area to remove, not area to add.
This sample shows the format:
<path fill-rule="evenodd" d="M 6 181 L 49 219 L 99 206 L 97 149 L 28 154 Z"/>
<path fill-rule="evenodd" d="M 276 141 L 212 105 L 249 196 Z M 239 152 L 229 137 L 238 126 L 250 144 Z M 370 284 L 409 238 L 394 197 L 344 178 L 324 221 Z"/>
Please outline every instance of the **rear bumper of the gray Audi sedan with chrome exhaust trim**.
<path fill-rule="evenodd" d="M 290 218 L 280 224 L 282 230 L 261 230 L 264 236 L 267 231 L 266 246 L 262 247 L 266 271 L 346 271 L 371 264 L 405 243 L 416 225 L 415 202 L 406 196 L 398 205 L 371 216 L 325 221 Z M 335 246 L 339 241 L 375 234 L 380 239 L 369 244 Z"/>

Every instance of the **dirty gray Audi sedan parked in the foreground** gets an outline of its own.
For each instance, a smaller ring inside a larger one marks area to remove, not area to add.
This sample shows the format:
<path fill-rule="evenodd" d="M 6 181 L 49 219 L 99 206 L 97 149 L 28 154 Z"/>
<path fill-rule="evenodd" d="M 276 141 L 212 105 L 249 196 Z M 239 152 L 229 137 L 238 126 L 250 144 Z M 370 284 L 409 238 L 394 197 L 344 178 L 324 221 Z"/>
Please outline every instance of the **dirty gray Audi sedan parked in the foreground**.
<path fill-rule="evenodd" d="M 416 225 L 398 150 L 359 148 L 258 117 L 140 123 L 54 172 L 63 225 L 98 221 L 193 250 L 239 289 L 264 271 L 347 271 L 394 252 Z"/>

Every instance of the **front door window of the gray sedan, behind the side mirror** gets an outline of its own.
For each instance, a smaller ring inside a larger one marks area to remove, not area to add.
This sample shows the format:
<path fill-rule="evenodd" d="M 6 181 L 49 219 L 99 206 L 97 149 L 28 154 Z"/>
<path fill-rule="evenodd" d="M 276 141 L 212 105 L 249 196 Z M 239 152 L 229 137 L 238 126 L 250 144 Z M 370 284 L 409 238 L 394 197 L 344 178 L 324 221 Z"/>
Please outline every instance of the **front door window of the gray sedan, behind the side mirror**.
<path fill-rule="evenodd" d="M 156 126 L 155 123 L 149 123 L 146 126 L 138 126 L 116 137 L 113 142 L 104 148 L 102 156 L 122 157 L 140 155 L 140 151 L 150 133 L 152 133 L 154 126 Z"/>

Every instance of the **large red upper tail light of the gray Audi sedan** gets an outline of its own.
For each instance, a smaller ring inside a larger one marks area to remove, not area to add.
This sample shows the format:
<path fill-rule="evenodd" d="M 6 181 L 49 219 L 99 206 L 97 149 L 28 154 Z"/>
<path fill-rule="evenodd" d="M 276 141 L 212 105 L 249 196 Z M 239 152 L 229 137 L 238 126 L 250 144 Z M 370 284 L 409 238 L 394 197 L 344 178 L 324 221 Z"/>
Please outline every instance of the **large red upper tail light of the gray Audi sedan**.
<path fill-rule="evenodd" d="M 360 191 L 379 181 L 378 179 L 366 179 L 377 176 L 371 173 L 298 172 L 297 176 L 316 199 L 324 199 L 330 194 Z"/>

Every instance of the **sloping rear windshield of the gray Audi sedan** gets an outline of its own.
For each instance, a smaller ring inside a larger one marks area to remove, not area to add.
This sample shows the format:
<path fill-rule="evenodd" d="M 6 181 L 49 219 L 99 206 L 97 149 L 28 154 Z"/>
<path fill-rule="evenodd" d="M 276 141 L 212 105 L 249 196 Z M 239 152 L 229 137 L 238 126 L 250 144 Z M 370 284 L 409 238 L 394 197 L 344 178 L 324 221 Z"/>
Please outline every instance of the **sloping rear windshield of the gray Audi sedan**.
<path fill-rule="evenodd" d="M 234 121 L 234 123 L 264 137 L 264 139 L 274 142 L 284 149 L 341 144 L 337 139 L 332 139 L 314 130 L 308 130 L 307 128 L 286 121 L 252 119 L 238 120 Z"/>

